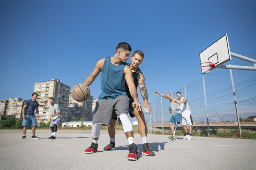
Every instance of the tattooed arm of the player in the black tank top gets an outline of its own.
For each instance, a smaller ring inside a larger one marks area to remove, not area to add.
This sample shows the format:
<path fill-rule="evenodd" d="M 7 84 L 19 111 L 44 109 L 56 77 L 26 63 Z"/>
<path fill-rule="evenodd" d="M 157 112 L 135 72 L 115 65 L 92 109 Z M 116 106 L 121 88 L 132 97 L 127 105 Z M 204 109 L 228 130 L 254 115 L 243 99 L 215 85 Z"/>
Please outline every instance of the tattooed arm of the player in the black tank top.
<path fill-rule="evenodd" d="M 150 108 L 150 105 L 149 105 L 149 100 L 147 99 L 147 88 L 145 86 L 145 77 L 142 73 L 140 73 L 137 77 L 137 80 L 138 80 L 138 83 L 139 83 L 139 88 L 140 88 L 140 93 L 141 93 L 141 96 L 144 100 L 144 108 L 146 109 L 147 107 L 147 111 L 149 113 L 151 113 L 151 108 Z"/>

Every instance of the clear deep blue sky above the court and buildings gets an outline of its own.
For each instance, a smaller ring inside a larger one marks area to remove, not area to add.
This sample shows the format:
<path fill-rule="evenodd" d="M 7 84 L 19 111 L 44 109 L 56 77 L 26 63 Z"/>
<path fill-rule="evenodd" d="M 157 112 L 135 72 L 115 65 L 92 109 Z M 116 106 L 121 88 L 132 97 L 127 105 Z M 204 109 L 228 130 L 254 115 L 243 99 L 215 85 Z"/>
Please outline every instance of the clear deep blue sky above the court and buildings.
<path fill-rule="evenodd" d="M 154 91 L 202 78 L 199 53 L 226 33 L 231 52 L 256 53 L 255 9 L 255 0 L 0 0 L 0 100 L 31 99 L 34 83 L 53 78 L 71 88 L 83 83 L 127 42 L 131 53 L 145 54 L 140 69 L 151 102 L 159 99 Z M 100 80 L 89 87 L 93 98 Z"/>

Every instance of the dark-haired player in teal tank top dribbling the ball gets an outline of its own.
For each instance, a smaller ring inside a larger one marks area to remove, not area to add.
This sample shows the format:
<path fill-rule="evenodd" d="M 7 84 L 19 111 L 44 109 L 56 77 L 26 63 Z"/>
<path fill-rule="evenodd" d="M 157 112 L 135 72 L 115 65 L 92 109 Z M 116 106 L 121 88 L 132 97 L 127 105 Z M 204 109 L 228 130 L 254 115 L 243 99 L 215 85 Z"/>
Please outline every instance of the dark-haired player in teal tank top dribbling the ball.
<path fill-rule="evenodd" d="M 128 43 L 119 43 L 116 47 L 114 57 L 103 58 L 97 62 L 92 74 L 83 82 L 90 86 L 95 78 L 102 72 L 101 90 L 99 100 L 93 115 L 92 138 L 93 142 L 85 153 L 93 153 L 98 150 L 98 139 L 100 135 L 100 126 L 102 124 L 109 125 L 112 117 L 112 111 L 115 109 L 117 121 L 122 123 L 124 132 L 129 142 L 128 160 L 137 160 L 138 149 L 134 144 L 132 123 L 128 118 L 129 98 L 125 93 L 124 80 L 129 87 L 130 94 L 134 100 L 132 103 L 135 109 L 141 111 L 142 106 L 138 99 L 138 94 L 133 82 L 132 71 L 126 65 L 132 48 Z"/>

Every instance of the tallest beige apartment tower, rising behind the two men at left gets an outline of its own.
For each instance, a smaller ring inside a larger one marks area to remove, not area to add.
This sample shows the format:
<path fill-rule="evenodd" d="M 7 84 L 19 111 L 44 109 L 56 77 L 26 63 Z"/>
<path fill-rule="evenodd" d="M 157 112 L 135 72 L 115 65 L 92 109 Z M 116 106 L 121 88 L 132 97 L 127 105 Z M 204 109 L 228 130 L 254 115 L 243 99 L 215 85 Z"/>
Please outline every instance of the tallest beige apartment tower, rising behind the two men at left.
<path fill-rule="evenodd" d="M 35 83 L 34 92 L 38 94 L 36 101 L 40 105 L 48 105 L 49 98 L 54 98 L 54 103 L 57 103 L 62 113 L 62 122 L 65 122 L 68 114 L 69 105 L 69 90 L 70 87 L 61 83 L 60 80 L 51 79 L 41 83 Z M 50 109 L 39 107 L 38 123 L 50 121 Z"/>

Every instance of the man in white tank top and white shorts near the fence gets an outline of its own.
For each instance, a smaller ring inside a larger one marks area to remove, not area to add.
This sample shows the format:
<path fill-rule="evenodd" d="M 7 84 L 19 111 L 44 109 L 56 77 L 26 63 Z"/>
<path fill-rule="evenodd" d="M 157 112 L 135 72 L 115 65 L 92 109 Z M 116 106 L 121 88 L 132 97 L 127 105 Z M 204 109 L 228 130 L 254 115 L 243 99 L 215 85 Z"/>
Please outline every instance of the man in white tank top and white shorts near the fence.
<path fill-rule="evenodd" d="M 187 99 L 182 97 L 180 92 L 177 92 L 177 97 L 178 97 L 178 100 L 176 103 L 180 104 L 180 109 L 182 112 L 181 125 L 184 128 L 184 131 L 186 132 L 186 136 L 183 139 L 192 140 L 191 134 L 192 134 L 193 120 L 191 117 L 190 109 L 188 107 Z M 186 125 L 188 125 L 189 133 L 187 131 Z"/>

